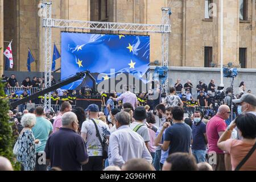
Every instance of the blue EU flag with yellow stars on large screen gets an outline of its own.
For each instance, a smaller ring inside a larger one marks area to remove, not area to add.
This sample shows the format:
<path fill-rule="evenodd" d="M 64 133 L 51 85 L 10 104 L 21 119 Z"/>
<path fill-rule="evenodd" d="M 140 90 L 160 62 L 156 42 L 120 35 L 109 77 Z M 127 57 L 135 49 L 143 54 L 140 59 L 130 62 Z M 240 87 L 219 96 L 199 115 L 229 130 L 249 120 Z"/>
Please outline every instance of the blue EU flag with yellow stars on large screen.
<path fill-rule="evenodd" d="M 102 74 L 108 80 L 119 73 L 141 78 L 150 68 L 150 37 L 61 33 L 61 80 L 77 72 Z M 115 69 L 110 72 L 110 69 Z M 63 89 L 75 89 L 82 80 Z"/>

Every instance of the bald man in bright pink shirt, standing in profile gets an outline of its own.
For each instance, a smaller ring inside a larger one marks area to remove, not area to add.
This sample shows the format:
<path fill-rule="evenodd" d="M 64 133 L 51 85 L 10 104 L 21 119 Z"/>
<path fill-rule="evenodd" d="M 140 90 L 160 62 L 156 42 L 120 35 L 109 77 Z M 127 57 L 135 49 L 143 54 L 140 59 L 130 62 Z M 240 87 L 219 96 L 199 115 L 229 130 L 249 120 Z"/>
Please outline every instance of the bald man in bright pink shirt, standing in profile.
<path fill-rule="evenodd" d="M 228 119 L 230 109 L 227 105 L 221 105 L 218 108 L 218 113 L 207 123 L 207 139 L 209 143 L 209 164 L 214 171 L 225 171 L 225 155 L 224 151 L 217 146 L 218 139 L 226 130 L 225 119 Z M 215 160 L 214 160 L 215 159 Z"/>

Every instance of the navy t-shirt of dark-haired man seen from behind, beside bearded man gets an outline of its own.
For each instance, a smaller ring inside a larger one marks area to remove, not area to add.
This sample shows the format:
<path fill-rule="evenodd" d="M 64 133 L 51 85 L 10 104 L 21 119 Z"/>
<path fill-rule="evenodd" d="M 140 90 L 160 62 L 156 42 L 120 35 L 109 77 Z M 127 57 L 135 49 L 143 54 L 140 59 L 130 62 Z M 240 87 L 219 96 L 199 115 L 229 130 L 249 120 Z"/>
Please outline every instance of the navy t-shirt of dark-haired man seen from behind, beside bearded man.
<path fill-rule="evenodd" d="M 170 141 L 169 154 L 176 152 L 189 153 L 192 130 L 186 123 L 175 123 L 166 129 L 164 141 Z"/>

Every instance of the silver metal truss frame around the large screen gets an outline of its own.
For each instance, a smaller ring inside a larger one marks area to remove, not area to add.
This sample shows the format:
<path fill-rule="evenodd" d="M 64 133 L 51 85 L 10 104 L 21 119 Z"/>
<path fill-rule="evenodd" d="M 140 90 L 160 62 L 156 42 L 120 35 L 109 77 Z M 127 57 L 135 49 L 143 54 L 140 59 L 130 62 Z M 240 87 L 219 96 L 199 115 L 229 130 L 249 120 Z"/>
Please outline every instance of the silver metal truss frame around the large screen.
<path fill-rule="evenodd" d="M 71 28 L 79 30 L 97 30 L 97 31 L 117 31 L 117 32 L 143 32 L 162 34 L 162 65 L 168 67 L 169 54 L 169 35 L 171 33 L 171 8 L 162 8 L 162 24 L 138 24 L 138 23 L 115 23 L 115 22 L 92 22 L 81 20 L 63 20 L 52 19 L 51 2 L 43 2 L 46 17 L 43 19 L 43 27 L 45 28 L 45 83 L 46 88 L 51 86 L 51 28 Z M 162 85 L 163 92 L 168 92 L 168 79 Z M 48 97 L 47 97 L 48 96 Z M 48 93 L 44 98 L 44 105 L 47 109 L 51 108 L 51 98 Z"/>

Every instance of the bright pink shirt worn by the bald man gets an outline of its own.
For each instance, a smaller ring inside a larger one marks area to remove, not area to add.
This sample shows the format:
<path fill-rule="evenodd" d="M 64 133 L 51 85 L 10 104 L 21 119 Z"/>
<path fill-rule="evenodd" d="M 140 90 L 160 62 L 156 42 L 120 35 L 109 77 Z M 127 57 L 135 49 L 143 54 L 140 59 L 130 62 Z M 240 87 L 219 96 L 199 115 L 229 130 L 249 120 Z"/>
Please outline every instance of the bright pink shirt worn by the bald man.
<path fill-rule="evenodd" d="M 210 121 L 207 123 L 207 139 L 210 151 L 215 151 L 216 154 L 224 154 L 220 148 L 217 146 L 218 139 L 220 136 L 218 135 L 219 132 L 226 130 L 226 123 L 224 119 L 215 115 Z"/>

